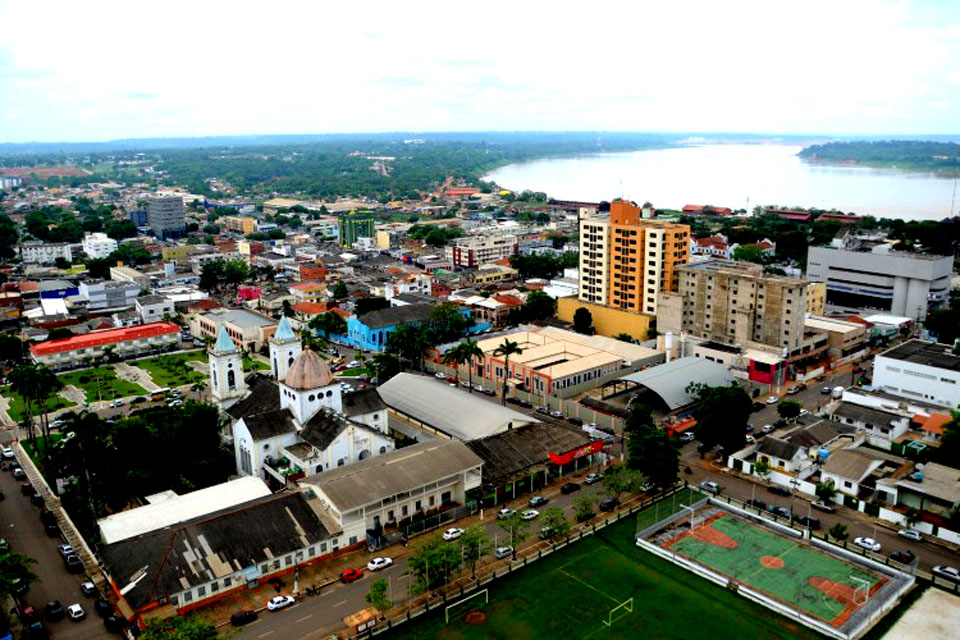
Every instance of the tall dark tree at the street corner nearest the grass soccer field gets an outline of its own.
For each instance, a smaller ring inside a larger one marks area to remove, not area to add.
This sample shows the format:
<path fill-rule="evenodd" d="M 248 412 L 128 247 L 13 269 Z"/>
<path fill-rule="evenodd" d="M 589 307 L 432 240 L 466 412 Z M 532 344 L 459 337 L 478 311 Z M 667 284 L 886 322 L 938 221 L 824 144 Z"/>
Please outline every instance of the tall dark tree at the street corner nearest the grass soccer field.
<path fill-rule="evenodd" d="M 657 487 L 669 487 L 676 482 L 680 471 L 679 443 L 657 427 L 649 407 L 634 405 L 624 423 L 624 431 L 628 469 L 639 472 Z M 608 475 L 604 474 L 604 482 Z"/>

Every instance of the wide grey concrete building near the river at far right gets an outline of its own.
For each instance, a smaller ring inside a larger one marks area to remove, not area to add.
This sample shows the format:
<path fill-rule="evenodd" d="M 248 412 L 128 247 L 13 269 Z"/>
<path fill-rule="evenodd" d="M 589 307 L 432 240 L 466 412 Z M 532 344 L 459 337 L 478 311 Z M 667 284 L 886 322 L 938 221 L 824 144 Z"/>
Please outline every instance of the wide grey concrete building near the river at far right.
<path fill-rule="evenodd" d="M 893 251 L 844 239 L 807 250 L 807 278 L 826 283 L 827 310 L 878 310 L 915 320 L 950 297 L 952 256 Z"/>

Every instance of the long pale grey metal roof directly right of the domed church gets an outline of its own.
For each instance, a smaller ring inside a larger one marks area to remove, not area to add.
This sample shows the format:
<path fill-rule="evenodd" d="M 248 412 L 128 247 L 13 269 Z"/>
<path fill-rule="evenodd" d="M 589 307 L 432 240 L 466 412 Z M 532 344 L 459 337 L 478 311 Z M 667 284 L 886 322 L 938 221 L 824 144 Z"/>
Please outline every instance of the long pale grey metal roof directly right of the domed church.
<path fill-rule="evenodd" d="M 398 373 L 378 390 L 391 409 L 464 442 L 539 422 L 480 394 L 412 373 Z"/>

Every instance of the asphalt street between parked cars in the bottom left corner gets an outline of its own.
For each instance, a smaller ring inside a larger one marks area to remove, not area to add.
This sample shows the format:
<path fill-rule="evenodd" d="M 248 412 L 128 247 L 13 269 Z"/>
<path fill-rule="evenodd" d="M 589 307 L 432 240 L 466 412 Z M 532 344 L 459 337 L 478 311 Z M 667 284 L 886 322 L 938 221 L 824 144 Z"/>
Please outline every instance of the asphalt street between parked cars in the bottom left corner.
<path fill-rule="evenodd" d="M 24 602 L 38 611 L 43 610 L 48 600 L 59 600 L 64 608 L 78 602 L 87 612 L 86 620 L 80 622 L 44 620 L 51 637 L 64 640 L 116 637 L 104 629 L 100 617 L 93 611 L 93 600 L 80 592 L 80 583 L 86 579 L 83 574 L 67 573 L 63 568 L 63 561 L 57 552 L 57 545 L 63 540 L 49 538 L 44 533 L 39 507 L 33 506 L 26 496 L 21 495 L 20 483 L 13 479 L 9 471 L 0 471 L 0 487 L 6 495 L 6 499 L 0 501 L 0 537 L 10 542 L 13 551 L 37 560 L 32 571 L 40 579 L 30 587 Z"/>

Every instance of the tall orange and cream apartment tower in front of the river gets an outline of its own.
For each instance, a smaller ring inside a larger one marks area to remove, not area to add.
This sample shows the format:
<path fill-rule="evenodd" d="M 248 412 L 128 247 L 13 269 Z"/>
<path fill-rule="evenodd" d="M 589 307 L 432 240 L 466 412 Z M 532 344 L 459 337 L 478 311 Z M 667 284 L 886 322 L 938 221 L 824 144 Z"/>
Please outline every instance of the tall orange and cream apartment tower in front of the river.
<path fill-rule="evenodd" d="M 581 220 L 581 300 L 655 314 L 660 292 L 677 290 L 690 227 L 655 220 L 654 213 L 652 205 L 615 200 L 608 217 Z"/>

